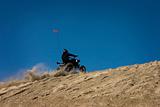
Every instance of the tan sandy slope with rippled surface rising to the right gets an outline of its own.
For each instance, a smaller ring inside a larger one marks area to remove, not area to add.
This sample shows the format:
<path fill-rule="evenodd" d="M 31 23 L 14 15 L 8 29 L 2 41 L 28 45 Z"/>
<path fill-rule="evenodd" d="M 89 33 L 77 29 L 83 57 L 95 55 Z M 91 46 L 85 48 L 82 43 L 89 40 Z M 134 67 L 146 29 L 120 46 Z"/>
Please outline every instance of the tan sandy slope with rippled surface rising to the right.
<path fill-rule="evenodd" d="M 0 107 L 160 107 L 160 62 L 2 83 Z"/>

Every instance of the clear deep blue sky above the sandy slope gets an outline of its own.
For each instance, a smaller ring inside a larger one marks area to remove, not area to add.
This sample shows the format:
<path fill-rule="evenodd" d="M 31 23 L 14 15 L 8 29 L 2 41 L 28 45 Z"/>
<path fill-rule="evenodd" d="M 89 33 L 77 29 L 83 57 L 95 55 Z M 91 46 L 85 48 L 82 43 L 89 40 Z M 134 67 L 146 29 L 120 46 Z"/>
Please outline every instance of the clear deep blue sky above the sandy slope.
<path fill-rule="evenodd" d="M 0 1 L 1 79 L 37 63 L 54 69 L 63 48 L 89 71 L 159 60 L 160 2 Z"/>

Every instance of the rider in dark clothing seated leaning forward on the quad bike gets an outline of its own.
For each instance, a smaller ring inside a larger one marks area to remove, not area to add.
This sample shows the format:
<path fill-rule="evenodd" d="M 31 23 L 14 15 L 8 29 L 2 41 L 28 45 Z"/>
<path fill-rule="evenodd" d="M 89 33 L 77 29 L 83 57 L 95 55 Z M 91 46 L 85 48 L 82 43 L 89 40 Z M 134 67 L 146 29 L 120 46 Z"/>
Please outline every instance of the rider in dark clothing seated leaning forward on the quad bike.
<path fill-rule="evenodd" d="M 64 64 L 67 64 L 71 61 L 70 56 L 77 57 L 77 55 L 71 54 L 71 53 L 68 52 L 67 49 L 64 49 L 63 54 L 62 54 L 62 61 L 63 61 Z"/>

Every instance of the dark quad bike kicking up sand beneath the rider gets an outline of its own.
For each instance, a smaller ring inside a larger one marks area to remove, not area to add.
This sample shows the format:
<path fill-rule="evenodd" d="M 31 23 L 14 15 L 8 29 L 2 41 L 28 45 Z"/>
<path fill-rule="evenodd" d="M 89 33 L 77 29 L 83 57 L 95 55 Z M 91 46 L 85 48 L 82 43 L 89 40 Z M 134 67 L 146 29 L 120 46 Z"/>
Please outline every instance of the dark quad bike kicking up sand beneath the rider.
<path fill-rule="evenodd" d="M 80 65 L 80 60 L 76 58 L 70 59 L 67 64 L 59 62 L 57 62 L 57 64 L 59 65 L 57 70 L 63 70 L 67 72 L 70 72 L 72 70 L 78 70 L 80 72 L 86 73 L 86 67 L 84 65 Z"/>

